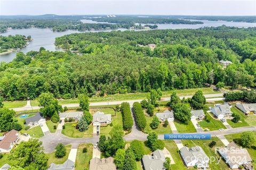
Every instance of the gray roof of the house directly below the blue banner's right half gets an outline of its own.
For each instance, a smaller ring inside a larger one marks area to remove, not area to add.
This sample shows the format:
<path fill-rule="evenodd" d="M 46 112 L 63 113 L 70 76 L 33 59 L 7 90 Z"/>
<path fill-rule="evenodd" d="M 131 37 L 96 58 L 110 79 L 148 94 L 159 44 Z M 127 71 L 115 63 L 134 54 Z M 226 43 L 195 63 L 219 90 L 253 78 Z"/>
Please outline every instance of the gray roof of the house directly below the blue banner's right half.
<path fill-rule="evenodd" d="M 198 162 L 201 162 L 201 160 L 209 160 L 209 157 L 207 157 L 204 150 L 199 146 L 195 146 L 192 148 L 182 147 L 180 149 L 180 153 L 183 155 L 183 157 L 186 158 L 187 163 L 190 163 L 195 159 L 198 160 Z"/>

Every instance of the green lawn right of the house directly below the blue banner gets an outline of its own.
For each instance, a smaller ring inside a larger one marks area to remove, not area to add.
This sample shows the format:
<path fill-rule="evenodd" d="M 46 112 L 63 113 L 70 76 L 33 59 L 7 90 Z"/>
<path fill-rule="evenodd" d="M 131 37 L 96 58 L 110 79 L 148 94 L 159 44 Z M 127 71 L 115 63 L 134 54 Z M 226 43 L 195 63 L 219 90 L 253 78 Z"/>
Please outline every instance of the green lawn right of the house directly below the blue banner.
<path fill-rule="evenodd" d="M 209 143 L 211 141 L 215 141 L 216 145 L 213 148 L 209 147 Z M 195 144 L 194 144 L 194 143 Z M 204 150 L 205 154 L 211 159 L 211 158 L 215 158 L 214 162 L 209 162 L 210 168 L 212 170 L 219 170 L 219 169 L 229 169 L 228 166 L 226 165 L 225 162 L 223 162 L 223 160 L 220 160 L 220 163 L 218 164 L 218 160 L 220 159 L 219 154 L 215 154 L 215 148 L 217 147 L 223 147 L 223 143 L 220 141 L 219 138 L 217 137 L 212 137 L 211 140 L 193 140 L 193 142 L 191 140 L 182 140 L 182 143 L 184 146 L 188 146 L 188 147 L 194 147 L 195 145 L 198 145 L 200 147 L 202 147 L 202 149 Z"/>

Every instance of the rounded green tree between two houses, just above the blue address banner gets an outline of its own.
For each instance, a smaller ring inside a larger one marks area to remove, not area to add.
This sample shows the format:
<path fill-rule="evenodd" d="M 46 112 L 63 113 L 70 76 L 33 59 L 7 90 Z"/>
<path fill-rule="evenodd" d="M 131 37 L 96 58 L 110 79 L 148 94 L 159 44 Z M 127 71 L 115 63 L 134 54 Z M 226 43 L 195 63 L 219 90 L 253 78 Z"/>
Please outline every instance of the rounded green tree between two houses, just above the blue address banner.
<path fill-rule="evenodd" d="M 174 117 L 188 124 L 191 119 L 191 111 L 186 104 L 178 103 L 173 107 Z"/>

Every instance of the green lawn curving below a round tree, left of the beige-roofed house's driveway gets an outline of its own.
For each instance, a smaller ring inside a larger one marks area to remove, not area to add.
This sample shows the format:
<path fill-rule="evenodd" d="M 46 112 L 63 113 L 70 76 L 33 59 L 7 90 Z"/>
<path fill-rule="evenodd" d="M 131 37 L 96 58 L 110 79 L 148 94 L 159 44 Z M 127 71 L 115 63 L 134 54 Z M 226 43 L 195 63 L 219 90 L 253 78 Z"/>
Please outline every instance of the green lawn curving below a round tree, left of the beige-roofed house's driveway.
<path fill-rule="evenodd" d="M 80 132 L 78 129 L 72 126 L 73 123 L 65 123 L 65 129 L 62 129 L 61 133 L 70 138 L 88 138 L 93 135 L 93 126 L 89 125 L 89 129 L 85 132 Z"/>

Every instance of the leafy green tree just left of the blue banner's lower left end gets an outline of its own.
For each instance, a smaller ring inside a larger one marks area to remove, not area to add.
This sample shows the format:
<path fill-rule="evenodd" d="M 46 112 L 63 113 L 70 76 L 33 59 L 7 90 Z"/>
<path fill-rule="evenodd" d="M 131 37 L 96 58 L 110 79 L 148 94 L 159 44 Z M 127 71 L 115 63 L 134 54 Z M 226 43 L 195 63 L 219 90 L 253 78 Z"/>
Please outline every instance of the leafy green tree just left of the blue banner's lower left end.
<path fill-rule="evenodd" d="M 164 143 L 162 140 L 158 140 L 158 135 L 156 132 L 149 132 L 147 139 L 147 145 L 151 149 L 151 151 L 155 151 L 157 149 L 164 149 Z"/>

